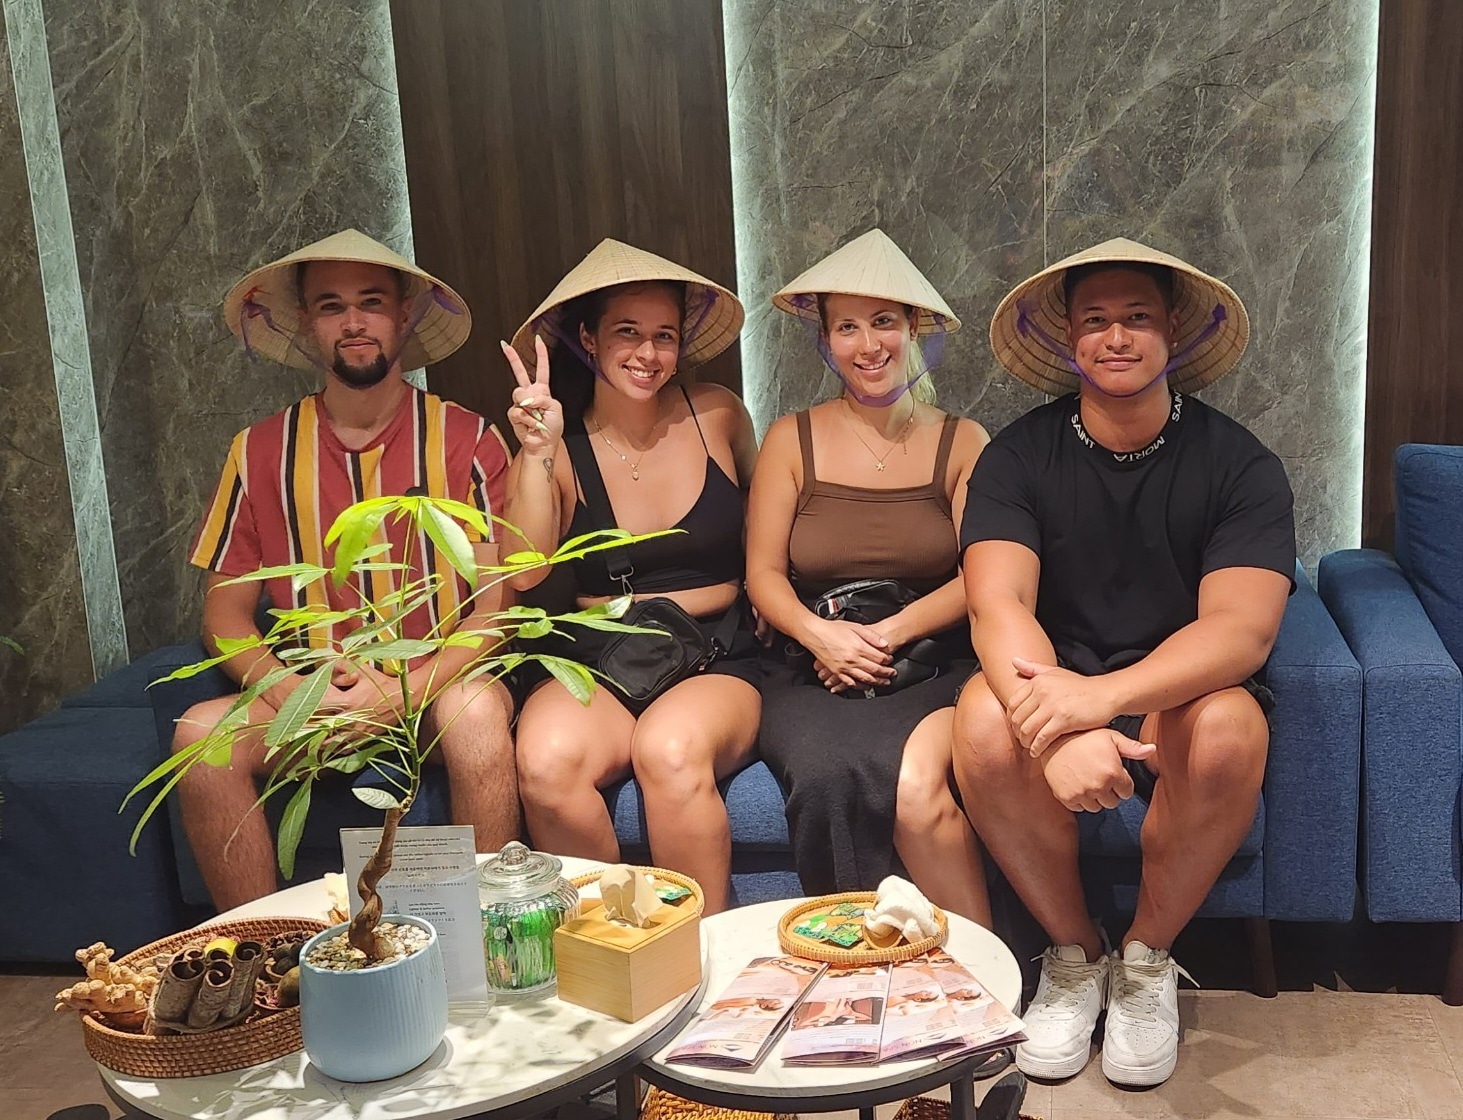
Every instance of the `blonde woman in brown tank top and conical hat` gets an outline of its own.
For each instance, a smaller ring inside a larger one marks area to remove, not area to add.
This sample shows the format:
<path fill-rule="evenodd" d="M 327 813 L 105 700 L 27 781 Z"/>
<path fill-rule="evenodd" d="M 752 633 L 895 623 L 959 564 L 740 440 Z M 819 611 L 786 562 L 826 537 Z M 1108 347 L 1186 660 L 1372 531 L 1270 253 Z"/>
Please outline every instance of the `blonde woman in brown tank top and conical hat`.
<path fill-rule="evenodd" d="M 952 705 L 974 667 L 955 526 L 988 437 L 933 405 L 919 345 L 960 322 L 879 230 L 774 304 L 811 323 L 844 386 L 771 427 L 748 515 L 748 591 L 790 651 L 764 689 L 761 750 L 787 795 L 803 889 L 873 889 L 897 854 L 932 901 L 989 924 L 951 776 Z M 815 611 L 863 579 L 894 580 L 909 601 L 870 623 Z M 929 662 L 933 677 L 904 686 Z"/>

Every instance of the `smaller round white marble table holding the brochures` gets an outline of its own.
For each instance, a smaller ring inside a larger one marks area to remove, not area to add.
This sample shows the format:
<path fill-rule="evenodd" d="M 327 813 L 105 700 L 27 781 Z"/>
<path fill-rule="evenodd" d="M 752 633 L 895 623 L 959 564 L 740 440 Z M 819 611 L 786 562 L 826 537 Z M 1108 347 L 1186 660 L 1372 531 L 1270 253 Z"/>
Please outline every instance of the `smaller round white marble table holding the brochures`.
<path fill-rule="evenodd" d="M 701 923 L 701 934 L 710 956 L 701 1006 L 712 1003 L 752 958 L 775 956 L 783 952 L 777 945 L 777 920 L 793 905 L 794 899 L 762 902 L 730 909 Z M 966 965 L 992 996 L 1014 1010 L 1021 999 L 1021 968 L 1011 950 L 990 930 L 955 914 L 947 917 L 949 940 L 945 949 Z M 677 1097 L 724 1108 L 762 1113 L 825 1113 L 857 1108 L 868 1117 L 872 1117 L 876 1104 L 914 1097 L 938 1085 L 949 1085 L 951 1117 L 961 1120 L 973 1111 L 973 1078 L 989 1057 L 976 1054 L 954 1062 L 923 1059 L 885 1062 L 876 1066 L 784 1066 L 784 1040 L 786 1034 L 774 1043 L 756 1069 L 734 1070 L 666 1063 L 666 1054 L 676 1047 L 676 1040 L 672 1038 L 641 1066 L 639 1075 Z"/>

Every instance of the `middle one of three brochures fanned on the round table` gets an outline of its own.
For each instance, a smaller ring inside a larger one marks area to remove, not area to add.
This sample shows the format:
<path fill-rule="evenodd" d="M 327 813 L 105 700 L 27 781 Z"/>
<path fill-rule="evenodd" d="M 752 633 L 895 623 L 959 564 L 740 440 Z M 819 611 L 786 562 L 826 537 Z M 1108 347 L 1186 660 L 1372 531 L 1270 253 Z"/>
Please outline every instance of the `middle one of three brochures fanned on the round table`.
<path fill-rule="evenodd" d="M 879 1060 L 890 965 L 830 966 L 793 1012 L 789 1066 L 863 1066 Z"/>

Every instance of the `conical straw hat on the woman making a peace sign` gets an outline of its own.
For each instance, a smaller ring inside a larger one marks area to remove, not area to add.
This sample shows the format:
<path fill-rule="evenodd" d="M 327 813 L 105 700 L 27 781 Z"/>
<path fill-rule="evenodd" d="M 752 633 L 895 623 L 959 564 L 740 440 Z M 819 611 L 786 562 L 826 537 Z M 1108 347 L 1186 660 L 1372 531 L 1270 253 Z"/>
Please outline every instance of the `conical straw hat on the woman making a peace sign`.
<path fill-rule="evenodd" d="M 746 311 L 730 288 L 723 288 L 673 260 L 606 237 L 584 260 L 569 269 L 569 273 L 549 292 L 549 298 L 518 328 L 514 335 L 514 349 L 524 357 L 524 361 L 531 363 L 534 332 L 541 333 L 552 349 L 560 338 L 559 320 L 563 317 L 563 306 L 571 300 L 600 288 L 613 288 L 616 284 L 658 279 L 682 281 L 686 285 L 686 320 L 680 339 L 679 368 L 701 366 L 736 342 Z"/>

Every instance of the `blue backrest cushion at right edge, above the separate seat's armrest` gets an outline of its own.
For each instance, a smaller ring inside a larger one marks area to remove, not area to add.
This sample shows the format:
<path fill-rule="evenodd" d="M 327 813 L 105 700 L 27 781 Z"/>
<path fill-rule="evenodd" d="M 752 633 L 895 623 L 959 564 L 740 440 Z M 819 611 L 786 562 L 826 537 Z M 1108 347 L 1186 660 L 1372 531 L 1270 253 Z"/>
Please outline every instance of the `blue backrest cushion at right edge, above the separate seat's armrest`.
<path fill-rule="evenodd" d="M 1394 480 L 1397 566 L 1453 661 L 1463 664 L 1463 447 L 1403 443 Z"/>

